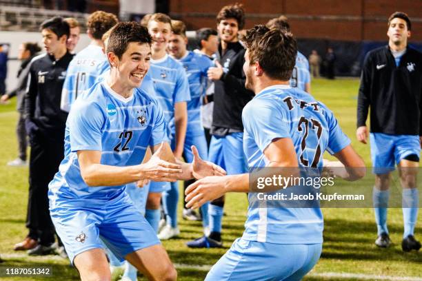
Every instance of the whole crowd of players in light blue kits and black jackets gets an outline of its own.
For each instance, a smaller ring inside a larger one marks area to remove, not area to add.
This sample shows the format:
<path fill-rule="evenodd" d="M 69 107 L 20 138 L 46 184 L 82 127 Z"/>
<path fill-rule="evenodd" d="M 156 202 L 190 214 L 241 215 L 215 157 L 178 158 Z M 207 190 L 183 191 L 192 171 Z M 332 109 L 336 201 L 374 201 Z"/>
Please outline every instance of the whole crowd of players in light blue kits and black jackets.
<path fill-rule="evenodd" d="M 242 6 L 223 7 L 217 30 L 198 30 L 199 49 L 190 51 L 185 24 L 166 14 L 119 23 L 98 11 L 88 17 L 90 45 L 72 54 L 77 24 L 45 21 L 46 53 L 29 52 L 21 67 L 28 74 L 19 83 L 25 102 L 18 128 L 24 124 L 31 145 L 29 231 L 14 249 L 59 251 L 82 280 L 108 280 L 124 260 L 127 280 L 136 280 L 137 270 L 151 280 L 174 280 L 159 241 L 180 233 L 177 180 L 185 186 L 183 218 L 203 222 L 204 235 L 187 246 L 210 248 L 222 247 L 224 194 L 250 191 L 248 167 L 322 167 L 328 150 L 339 162 L 325 166 L 342 168 L 333 173 L 361 178 L 365 170 L 350 167 L 363 168 L 363 160 L 332 112 L 310 94 L 309 64 L 287 19 L 240 32 L 244 23 Z M 422 59 L 407 48 L 407 15 L 393 14 L 388 32 L 390 48 L 365 60 L 357 136 L 366 142 L 371 107 L 372 158 L 384 168 L 374 170 L 376 244 L 390 245 L 388 172 L 395 160 L 406 205 L 402 247 L 410 251 L 421 247 L 414 238 L 419 195 L 414 170 L 403 168 L 419 165 L 422 123 L 402 122 L 421 115 Z M 383 81 L 394 75 L 394 87 L 374 90 L 380 65 Z M 385 106 L 385 95 L 396 101 L 402 83 L 409 83 L 407 111 L 378 114 L 374 107 Z M 306 138 L 308 125 L 321 130 Z M 374 147 L 385 143 L 391 149 L 381 155 Z M 242 238 L 207 280 L 301 280 L 319 260 L 322 231 L 319 208 L 250 208 Z"/>

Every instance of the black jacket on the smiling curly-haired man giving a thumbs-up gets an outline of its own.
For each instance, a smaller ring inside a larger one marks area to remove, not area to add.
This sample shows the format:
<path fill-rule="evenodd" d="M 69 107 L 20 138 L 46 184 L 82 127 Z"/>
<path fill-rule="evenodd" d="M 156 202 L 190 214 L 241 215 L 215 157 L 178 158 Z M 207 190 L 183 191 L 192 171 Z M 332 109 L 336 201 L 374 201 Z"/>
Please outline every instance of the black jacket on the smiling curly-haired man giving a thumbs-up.
<path fill-rule="evenodd" d="M 229 43 L 222 54 L 221 44 L 219 45 L 217 60 L 223 65 L 224 73 L 219 81 L 215 81 L 211 129 L 214 135 L 243 132 L 242 110 L 254 96 L 253 92 L 245 88 L 245 51 L 241 43 L 235 42 Z"/>

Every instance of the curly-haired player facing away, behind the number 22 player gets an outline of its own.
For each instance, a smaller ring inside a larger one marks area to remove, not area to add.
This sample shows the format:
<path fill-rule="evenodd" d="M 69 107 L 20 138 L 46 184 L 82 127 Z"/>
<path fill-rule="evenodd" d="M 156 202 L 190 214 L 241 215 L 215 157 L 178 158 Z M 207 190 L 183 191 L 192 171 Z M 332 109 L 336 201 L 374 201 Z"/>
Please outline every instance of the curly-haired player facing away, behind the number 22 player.
<path fill-rule="evenodd" d="M 70 62 L 61 93 L 61 110 L 69 112 L 76 98 L 92 87 L 97 77 L 108 67 L 107 56 L 101 50 L 101 37 L 117 21 L 114 14 L 103 11 L 93 12 L 88 17 L 88 37 L 91 43 Z"/>

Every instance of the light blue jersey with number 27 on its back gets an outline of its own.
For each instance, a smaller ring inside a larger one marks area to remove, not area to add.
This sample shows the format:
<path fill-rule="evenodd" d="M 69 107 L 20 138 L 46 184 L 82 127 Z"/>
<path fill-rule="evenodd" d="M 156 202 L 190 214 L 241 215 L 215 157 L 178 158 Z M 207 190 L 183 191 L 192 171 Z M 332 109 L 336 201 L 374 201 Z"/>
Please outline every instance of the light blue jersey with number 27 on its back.
<path fill-rule="evenodd" d="M 325 105 L 287 85 L 259 92 L 243 108 L 242 120 L 243 149 L 249 167 L 268 165 L 263 151 L 275 138 L 292 139 L 301 167 L 321 167 L 325 150 L 334 154 L 350 144 Z M 248 196 L 250 200 L 257 197 L 252 193 Z M 314 244 L 323 242 L 322 232 L 319 208 L 250 207 L 243 238 L 278 244 Z"/>

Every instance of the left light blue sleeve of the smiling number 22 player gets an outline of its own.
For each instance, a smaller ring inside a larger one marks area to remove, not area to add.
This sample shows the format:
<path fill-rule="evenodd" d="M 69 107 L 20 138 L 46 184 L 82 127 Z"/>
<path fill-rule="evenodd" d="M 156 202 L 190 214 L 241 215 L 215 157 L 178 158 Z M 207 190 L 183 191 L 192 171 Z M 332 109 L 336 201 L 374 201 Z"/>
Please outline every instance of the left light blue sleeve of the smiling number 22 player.
<path fill-rule="evenodd" d="M 101 151 L 102 128 L 106 118 L 97 104 L 75 103 L 68 116 L 70 149 Z"/>

